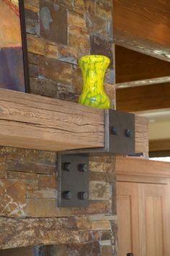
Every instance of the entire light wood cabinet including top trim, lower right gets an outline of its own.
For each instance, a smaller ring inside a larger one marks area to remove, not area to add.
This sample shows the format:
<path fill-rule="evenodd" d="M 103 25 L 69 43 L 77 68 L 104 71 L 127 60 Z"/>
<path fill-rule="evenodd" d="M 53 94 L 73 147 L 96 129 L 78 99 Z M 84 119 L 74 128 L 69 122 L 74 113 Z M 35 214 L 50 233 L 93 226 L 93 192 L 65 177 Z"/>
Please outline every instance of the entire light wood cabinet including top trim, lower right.
<path fill-rule="evenodd" d="M 158 172 L 161 163 L 155 161 L 118 161 L 125 164 L 116 163 L 118 255 L 169 256 L 170 163 Z"/>

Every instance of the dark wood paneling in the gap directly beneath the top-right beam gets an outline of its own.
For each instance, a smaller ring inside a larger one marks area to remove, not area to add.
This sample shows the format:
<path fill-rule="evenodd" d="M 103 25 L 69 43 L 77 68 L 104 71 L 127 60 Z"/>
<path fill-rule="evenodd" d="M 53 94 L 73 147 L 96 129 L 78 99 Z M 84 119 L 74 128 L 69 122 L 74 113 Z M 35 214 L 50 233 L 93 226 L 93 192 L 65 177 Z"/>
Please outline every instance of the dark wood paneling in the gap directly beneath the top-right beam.
<path fill-rule="evenodd" d="M 138 51 L 132 51 L 125 47 L 115 46 L 116 83 L 136 80 L 143 80 L 143 84 L 146 84 L 148 80 L 158 83 L 156 80 L 158 77 L 159 81 L 164 82 L 164 77 L 165 80 L 168 78 L 170 80 L 169 70 L 170 63 L 167 61 L 140 54 Z"/>

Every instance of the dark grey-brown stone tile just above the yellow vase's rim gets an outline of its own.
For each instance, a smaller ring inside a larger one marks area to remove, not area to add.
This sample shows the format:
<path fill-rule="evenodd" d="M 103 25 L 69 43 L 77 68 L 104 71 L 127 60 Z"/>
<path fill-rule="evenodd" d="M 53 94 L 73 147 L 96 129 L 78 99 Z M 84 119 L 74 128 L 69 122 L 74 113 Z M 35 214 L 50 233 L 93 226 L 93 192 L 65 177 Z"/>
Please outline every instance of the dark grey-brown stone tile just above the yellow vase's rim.
<path fill-rule="evenodd" d="M 109 68 L 113 69 L 113 41 L 102 36 L 91 34 L 91 54 L 102 54 L 110 59 Z"/>

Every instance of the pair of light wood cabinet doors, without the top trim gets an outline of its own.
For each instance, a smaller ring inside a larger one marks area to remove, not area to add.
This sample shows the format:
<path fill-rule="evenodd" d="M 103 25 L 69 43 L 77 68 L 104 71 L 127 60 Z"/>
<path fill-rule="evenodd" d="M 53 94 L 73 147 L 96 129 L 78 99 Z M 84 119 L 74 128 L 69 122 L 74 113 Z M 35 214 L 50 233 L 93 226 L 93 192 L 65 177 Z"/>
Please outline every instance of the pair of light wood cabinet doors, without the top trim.
<path fill-rule="evenodd" d="M 119 256 L 169 256 L 166 184 L 117 182 Z"/>

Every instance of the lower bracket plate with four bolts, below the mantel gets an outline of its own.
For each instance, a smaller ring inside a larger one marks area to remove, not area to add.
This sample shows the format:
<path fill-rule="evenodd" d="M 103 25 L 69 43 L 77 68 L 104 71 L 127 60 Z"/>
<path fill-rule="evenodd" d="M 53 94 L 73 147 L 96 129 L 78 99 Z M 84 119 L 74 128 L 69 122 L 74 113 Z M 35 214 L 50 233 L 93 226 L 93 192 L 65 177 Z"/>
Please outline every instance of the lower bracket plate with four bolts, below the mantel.
<path fill-rule="evenodd" d="M 89 205 L 89 161 L 86 155 L 58 155 L 58 207 Z"/>

